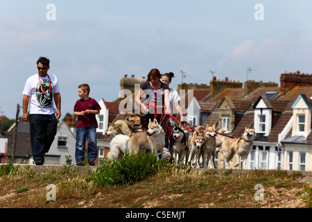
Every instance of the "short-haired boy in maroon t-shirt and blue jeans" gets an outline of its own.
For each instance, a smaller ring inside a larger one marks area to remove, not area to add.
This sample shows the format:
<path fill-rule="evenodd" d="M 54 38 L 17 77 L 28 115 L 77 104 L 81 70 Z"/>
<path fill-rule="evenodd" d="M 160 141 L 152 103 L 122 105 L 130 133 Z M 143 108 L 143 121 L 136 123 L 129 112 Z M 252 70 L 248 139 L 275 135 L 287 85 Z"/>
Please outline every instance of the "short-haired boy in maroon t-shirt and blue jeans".
<path fill-rule="evenodd" d="M 85 166 L 85 141 L 87 137 L 88 144 L 88 162 L 90 166 L 94 166 L 94 160 L 98 156 L 98 148 L 96 145 L 96 114 L 100 113 L 101 106 L 95 99 L 89 97 L 90 87 L 86 83 L 78 86 L 78 96 L 81 98 L 76 101 L 73 107 L 73 115 L 78 116 L 77 133 L 76 133 L 76 164 L 77 166 Z"/>

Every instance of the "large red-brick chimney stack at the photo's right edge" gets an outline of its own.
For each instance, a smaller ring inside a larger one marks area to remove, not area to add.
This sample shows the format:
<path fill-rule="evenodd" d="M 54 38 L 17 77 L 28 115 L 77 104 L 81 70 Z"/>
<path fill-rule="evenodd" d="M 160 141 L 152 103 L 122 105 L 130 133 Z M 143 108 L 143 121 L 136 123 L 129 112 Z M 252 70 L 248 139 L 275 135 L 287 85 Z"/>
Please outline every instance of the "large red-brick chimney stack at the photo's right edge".
<path fill-rule="evenodd" d="M 300 74 L 300 70 L 294 73 L 281 74 L 281 95 L 284 96 L 291 89 L 297 85 L 300 86 L 312 86 L 312 75 L 311 74 Z"/>

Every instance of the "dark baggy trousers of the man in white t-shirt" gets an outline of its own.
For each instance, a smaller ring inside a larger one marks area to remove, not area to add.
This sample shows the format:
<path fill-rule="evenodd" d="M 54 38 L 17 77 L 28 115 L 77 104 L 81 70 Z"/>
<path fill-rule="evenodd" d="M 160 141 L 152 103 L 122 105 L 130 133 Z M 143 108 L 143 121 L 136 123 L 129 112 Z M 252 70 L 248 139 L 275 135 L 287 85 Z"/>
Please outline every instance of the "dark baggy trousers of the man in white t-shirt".
<path fill-rule="evenodd" d="M 44 161 L 44 154 L 49 152 L 56 135 L 57 124 L 55 114 L 29 115 L 33 160 Z"/>

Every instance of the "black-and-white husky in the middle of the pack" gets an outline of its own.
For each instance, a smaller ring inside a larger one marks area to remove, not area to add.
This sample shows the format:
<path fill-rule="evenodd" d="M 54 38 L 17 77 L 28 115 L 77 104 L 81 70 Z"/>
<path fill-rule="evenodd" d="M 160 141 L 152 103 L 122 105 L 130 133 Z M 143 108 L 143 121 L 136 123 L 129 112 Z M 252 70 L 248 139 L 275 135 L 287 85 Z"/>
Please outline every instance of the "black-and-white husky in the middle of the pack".
<path fill-rule="evenodd" d="M 183 161 L 187 153 L 187 136 L 184 131 L 175 124 L 173 135 L 170 138 L 169 151 L 171 156 L 175 159 L 175 164 L 179 161 Z"/>

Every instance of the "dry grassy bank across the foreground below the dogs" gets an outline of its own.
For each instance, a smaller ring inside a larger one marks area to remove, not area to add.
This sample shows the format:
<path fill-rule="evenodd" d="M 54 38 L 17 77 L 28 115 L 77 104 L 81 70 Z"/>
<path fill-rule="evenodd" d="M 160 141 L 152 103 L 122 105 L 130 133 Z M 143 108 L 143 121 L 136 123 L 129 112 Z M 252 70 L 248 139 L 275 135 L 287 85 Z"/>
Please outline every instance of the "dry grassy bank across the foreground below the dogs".
<path fill-rule="evenodd" d="M 86 182 L 89 173 L 53 171 L 34 173 L 17 169 L 0 176 L 0 208 L 206 208 L 206 207 L 311 207 L 301 173 L 286 171 L 184 171 L 172 169 L 134 185 L 99 187 Z M 311 181 L 310 178 L 308 181 Z M 46 200 L 46 186 L 56 186 L 56 200 Z M 254 199 L 257 184 L 263 185 L 263 201 Z M 311 187 L 310 187 L 311 189 Z M 305 197 L 302 198 L 302 196 Z"/>

